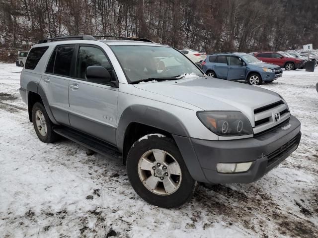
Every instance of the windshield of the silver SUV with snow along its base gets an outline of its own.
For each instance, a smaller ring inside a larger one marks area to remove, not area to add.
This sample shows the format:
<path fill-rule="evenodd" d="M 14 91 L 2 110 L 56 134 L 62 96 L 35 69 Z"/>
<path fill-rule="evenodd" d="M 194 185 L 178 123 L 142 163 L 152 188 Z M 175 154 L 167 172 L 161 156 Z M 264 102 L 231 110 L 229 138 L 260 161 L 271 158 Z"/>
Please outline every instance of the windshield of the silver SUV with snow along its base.
<path fill-rule="evenodd" d="M 170 47 L 111 46 L 129 83 L 170 79 L 185 73 L 203 76 L 195 64 Z"/>

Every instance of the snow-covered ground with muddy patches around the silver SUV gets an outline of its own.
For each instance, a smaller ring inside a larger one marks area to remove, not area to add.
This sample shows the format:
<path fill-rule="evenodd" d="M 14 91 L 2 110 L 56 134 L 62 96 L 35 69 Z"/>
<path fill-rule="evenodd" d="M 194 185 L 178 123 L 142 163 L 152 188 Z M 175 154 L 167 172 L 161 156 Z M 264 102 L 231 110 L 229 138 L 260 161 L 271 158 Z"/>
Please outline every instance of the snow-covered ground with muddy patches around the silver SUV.
<path fill-rule="evenodd" d="M 318 237 L 318 72 L 284 71 L 261 86 L 302 122 L 301 144 L 284 163 L 257 182 L 200 186 L 188 205 L 161 209 L 134 192 L 118 156 L 87 156 L 67 139 L 41 143 L 19 96 L 20 71 L 0 64 L 1 238 Z"/>

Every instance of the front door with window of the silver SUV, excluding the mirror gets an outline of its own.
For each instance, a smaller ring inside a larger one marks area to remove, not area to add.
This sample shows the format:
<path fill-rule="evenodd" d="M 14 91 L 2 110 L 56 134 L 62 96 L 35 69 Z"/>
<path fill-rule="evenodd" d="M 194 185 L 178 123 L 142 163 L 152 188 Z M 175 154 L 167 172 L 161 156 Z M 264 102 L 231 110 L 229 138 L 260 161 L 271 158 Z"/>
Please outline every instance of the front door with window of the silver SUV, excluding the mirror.
<path fill-rule="evenodd" d="M 69 82 L 71 126 L 116 144 L 118 88 L 89 82 L 85 75 L 88 66 L 103 66 L 114 76 L 113 68 L 97 46 L 79 45 L 77 51 L 75 77 Z"/>

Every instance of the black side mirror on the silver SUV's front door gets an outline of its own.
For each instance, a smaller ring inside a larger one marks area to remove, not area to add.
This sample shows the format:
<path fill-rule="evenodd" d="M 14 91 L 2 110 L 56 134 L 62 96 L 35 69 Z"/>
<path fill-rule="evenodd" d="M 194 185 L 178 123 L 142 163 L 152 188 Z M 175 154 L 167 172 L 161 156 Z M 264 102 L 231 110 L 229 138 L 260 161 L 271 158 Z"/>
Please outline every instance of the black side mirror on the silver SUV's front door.
<path fill-rule="evenodd" d="M 86 68 L 86 79 L 92 83 L 107 84 L 111 82 L 111 75 L 106 68 L 94 65 Z"/>

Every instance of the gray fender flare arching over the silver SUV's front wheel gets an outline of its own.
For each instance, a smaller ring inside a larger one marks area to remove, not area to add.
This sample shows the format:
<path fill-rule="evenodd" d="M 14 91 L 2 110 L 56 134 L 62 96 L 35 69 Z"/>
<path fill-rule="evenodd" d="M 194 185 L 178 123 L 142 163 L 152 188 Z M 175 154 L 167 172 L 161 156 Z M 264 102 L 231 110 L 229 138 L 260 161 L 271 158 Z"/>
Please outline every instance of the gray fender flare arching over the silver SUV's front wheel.
<path fill-rule="evenodd" d="M 123 151 L 126 128 L 132 122 L 153 126 L 172 134 L 192 178 L 207 181 L 191 144 L 189 133 L 183 123 L 174 115 L 144 105 L 134 105 L 125 109 L 116 130 L 116 145 L 120 151 Z"/>

